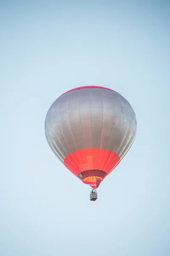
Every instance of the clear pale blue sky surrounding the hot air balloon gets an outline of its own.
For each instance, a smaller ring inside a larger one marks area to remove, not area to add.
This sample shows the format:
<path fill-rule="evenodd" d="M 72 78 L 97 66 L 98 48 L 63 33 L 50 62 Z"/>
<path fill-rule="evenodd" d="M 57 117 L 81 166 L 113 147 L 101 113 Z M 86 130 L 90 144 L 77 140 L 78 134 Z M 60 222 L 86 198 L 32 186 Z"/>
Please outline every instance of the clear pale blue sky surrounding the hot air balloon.
<path fill-rule="evenodd" d="M 89 199 L 45 115 L 74 87 L 132 105 L 136 140 Z M 170 1 L 0 1 L 0 256 L 170 255 Z"/>

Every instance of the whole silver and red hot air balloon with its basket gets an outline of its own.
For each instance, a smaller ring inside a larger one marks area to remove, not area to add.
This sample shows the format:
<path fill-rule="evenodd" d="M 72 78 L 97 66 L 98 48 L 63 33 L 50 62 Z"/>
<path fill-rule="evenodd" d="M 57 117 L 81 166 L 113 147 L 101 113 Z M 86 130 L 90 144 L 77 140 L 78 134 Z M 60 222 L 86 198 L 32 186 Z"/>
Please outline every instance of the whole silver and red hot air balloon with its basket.
<path fill-rule="evenodd" d="M 59 96 L 45 118 L 45 136 L 56 157 L 83 183 L 96 189 L 123 160 L 136 137 L 136 115 L 114 90 L 74 88 Z"/>

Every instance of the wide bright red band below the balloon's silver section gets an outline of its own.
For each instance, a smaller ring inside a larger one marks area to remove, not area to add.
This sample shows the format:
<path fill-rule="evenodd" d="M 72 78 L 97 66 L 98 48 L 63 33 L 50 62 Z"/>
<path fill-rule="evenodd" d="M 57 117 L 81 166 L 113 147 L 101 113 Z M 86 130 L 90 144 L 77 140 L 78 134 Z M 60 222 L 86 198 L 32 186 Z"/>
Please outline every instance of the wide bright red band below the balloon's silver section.
<path fill-rule="evenodd" d="M 86 170 L 102 170 L 110 174 L 120 163 L 120 157 L 112 151 L 105 149 L 83 149 L 71 153 L 64 160 L 64 165 L 74 175 Z"/>

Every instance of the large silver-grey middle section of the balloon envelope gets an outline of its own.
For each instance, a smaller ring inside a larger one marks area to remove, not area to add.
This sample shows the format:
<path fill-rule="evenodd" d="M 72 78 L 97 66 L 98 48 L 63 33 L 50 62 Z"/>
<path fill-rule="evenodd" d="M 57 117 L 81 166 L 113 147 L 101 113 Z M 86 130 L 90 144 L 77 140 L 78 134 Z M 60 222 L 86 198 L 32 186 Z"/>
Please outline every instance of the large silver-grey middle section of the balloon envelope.
<path fill-rule="evenodd" d="M 45 136 L 60 161 L 88 148 L 122 159 L 136 136 L 136 116 L 127 100 L 107 89 L 86 88 L 60 96 L 45 118 Z"/>

